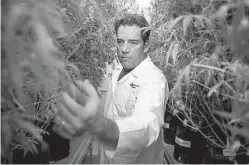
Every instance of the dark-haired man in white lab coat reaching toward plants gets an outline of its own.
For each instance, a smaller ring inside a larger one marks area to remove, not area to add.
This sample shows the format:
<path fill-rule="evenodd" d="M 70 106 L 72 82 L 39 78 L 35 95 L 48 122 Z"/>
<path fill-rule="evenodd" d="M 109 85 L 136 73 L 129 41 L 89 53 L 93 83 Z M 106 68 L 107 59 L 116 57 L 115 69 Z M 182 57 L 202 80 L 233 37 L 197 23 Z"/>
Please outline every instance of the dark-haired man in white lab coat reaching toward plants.
<path fill-rule="evenodd" d="M 163 163 L 160 134 L 168 85 L 146 54 L 150 31 L 140 15 L 126 15 L 115 23 L 121 69 L 112 76 L 104 107 L 88 82 L 78 82 L 62 94 L 57 132 L 72 137 L 88 131 L 101 143 L 101 163 Z M 82 99 L 82 96 L 85 99 Z M 82 100 L 87 100 L 84 103 Z"/>

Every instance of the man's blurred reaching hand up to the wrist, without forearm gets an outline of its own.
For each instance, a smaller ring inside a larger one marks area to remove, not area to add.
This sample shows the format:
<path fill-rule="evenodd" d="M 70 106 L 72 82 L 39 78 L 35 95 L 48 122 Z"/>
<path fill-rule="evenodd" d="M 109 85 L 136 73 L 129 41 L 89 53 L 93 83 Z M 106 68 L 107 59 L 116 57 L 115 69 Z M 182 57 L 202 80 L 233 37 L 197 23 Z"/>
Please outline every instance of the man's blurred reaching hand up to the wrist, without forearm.
<path fill-rule="evenodd" d="M 88 80 L 71 84 L 70 92 L 63 92 L 57 103 L 57 124 L 53 130 L 67 139 L 89 131 L 97 120 L 99 102 L 99 96 Z"/>

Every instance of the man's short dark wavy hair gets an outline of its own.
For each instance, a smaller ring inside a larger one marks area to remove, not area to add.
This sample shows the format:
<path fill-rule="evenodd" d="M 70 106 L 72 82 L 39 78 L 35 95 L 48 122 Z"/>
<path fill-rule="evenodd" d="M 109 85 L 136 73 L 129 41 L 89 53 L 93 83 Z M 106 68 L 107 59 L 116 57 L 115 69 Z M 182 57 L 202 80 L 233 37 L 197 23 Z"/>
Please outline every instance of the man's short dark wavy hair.
<path fill-rule="evenodd" d="M 114 28 L 115 28 L 116 34 L 118 32 L 118 28 L 120 26 L 125 26 L 125 25 L 128 25 L 128 26 L 137 25 L 137 26 L 143 28 L 143 27 L 148 27 L 149 23 L 147 22 L 147 20 L 142 15 L 139 15 L 139 14 L 127 14 L 123 18 L 117 20 L 114 23 Z M 144 30 L 142 30 L 141 35 L 142 35 L 143 41 L 146 42 L 146 41 L 149 40 L 150 30 L 146 30 L 146 31 L 144 31 Z"/>

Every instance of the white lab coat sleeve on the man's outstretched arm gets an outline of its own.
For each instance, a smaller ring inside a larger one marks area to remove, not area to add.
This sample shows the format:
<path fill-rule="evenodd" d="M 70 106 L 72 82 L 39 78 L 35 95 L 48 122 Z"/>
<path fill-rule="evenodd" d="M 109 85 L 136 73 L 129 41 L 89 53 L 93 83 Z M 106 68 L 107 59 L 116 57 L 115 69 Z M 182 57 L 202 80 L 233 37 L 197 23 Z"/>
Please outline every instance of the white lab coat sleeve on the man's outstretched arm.
<path fill-rule="evenodd" d="M 116 151 L 111 154 L 113 163 L 132 163 L 143 148 L 157 140 L 164 123 L 167 88 L 164 76 L 139 85 L 133 114 L 115 121 L 120 135 Z"/>

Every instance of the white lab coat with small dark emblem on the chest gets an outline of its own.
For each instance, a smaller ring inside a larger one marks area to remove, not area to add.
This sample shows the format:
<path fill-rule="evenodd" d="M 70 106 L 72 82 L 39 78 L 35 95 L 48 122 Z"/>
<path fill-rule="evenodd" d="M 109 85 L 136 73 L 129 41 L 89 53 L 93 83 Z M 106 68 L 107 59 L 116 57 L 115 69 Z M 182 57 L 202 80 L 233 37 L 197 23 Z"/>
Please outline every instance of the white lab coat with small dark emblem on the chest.
<path fill-rule="evenodd" d="M 112 75 L 103 113 L 118 125 L 118 145 L 115 151 L 101 147 L 100 163 L 163 164 L 166 78 L 150 57 L 117 81 L 121 71 L 119 67 Z"/>

